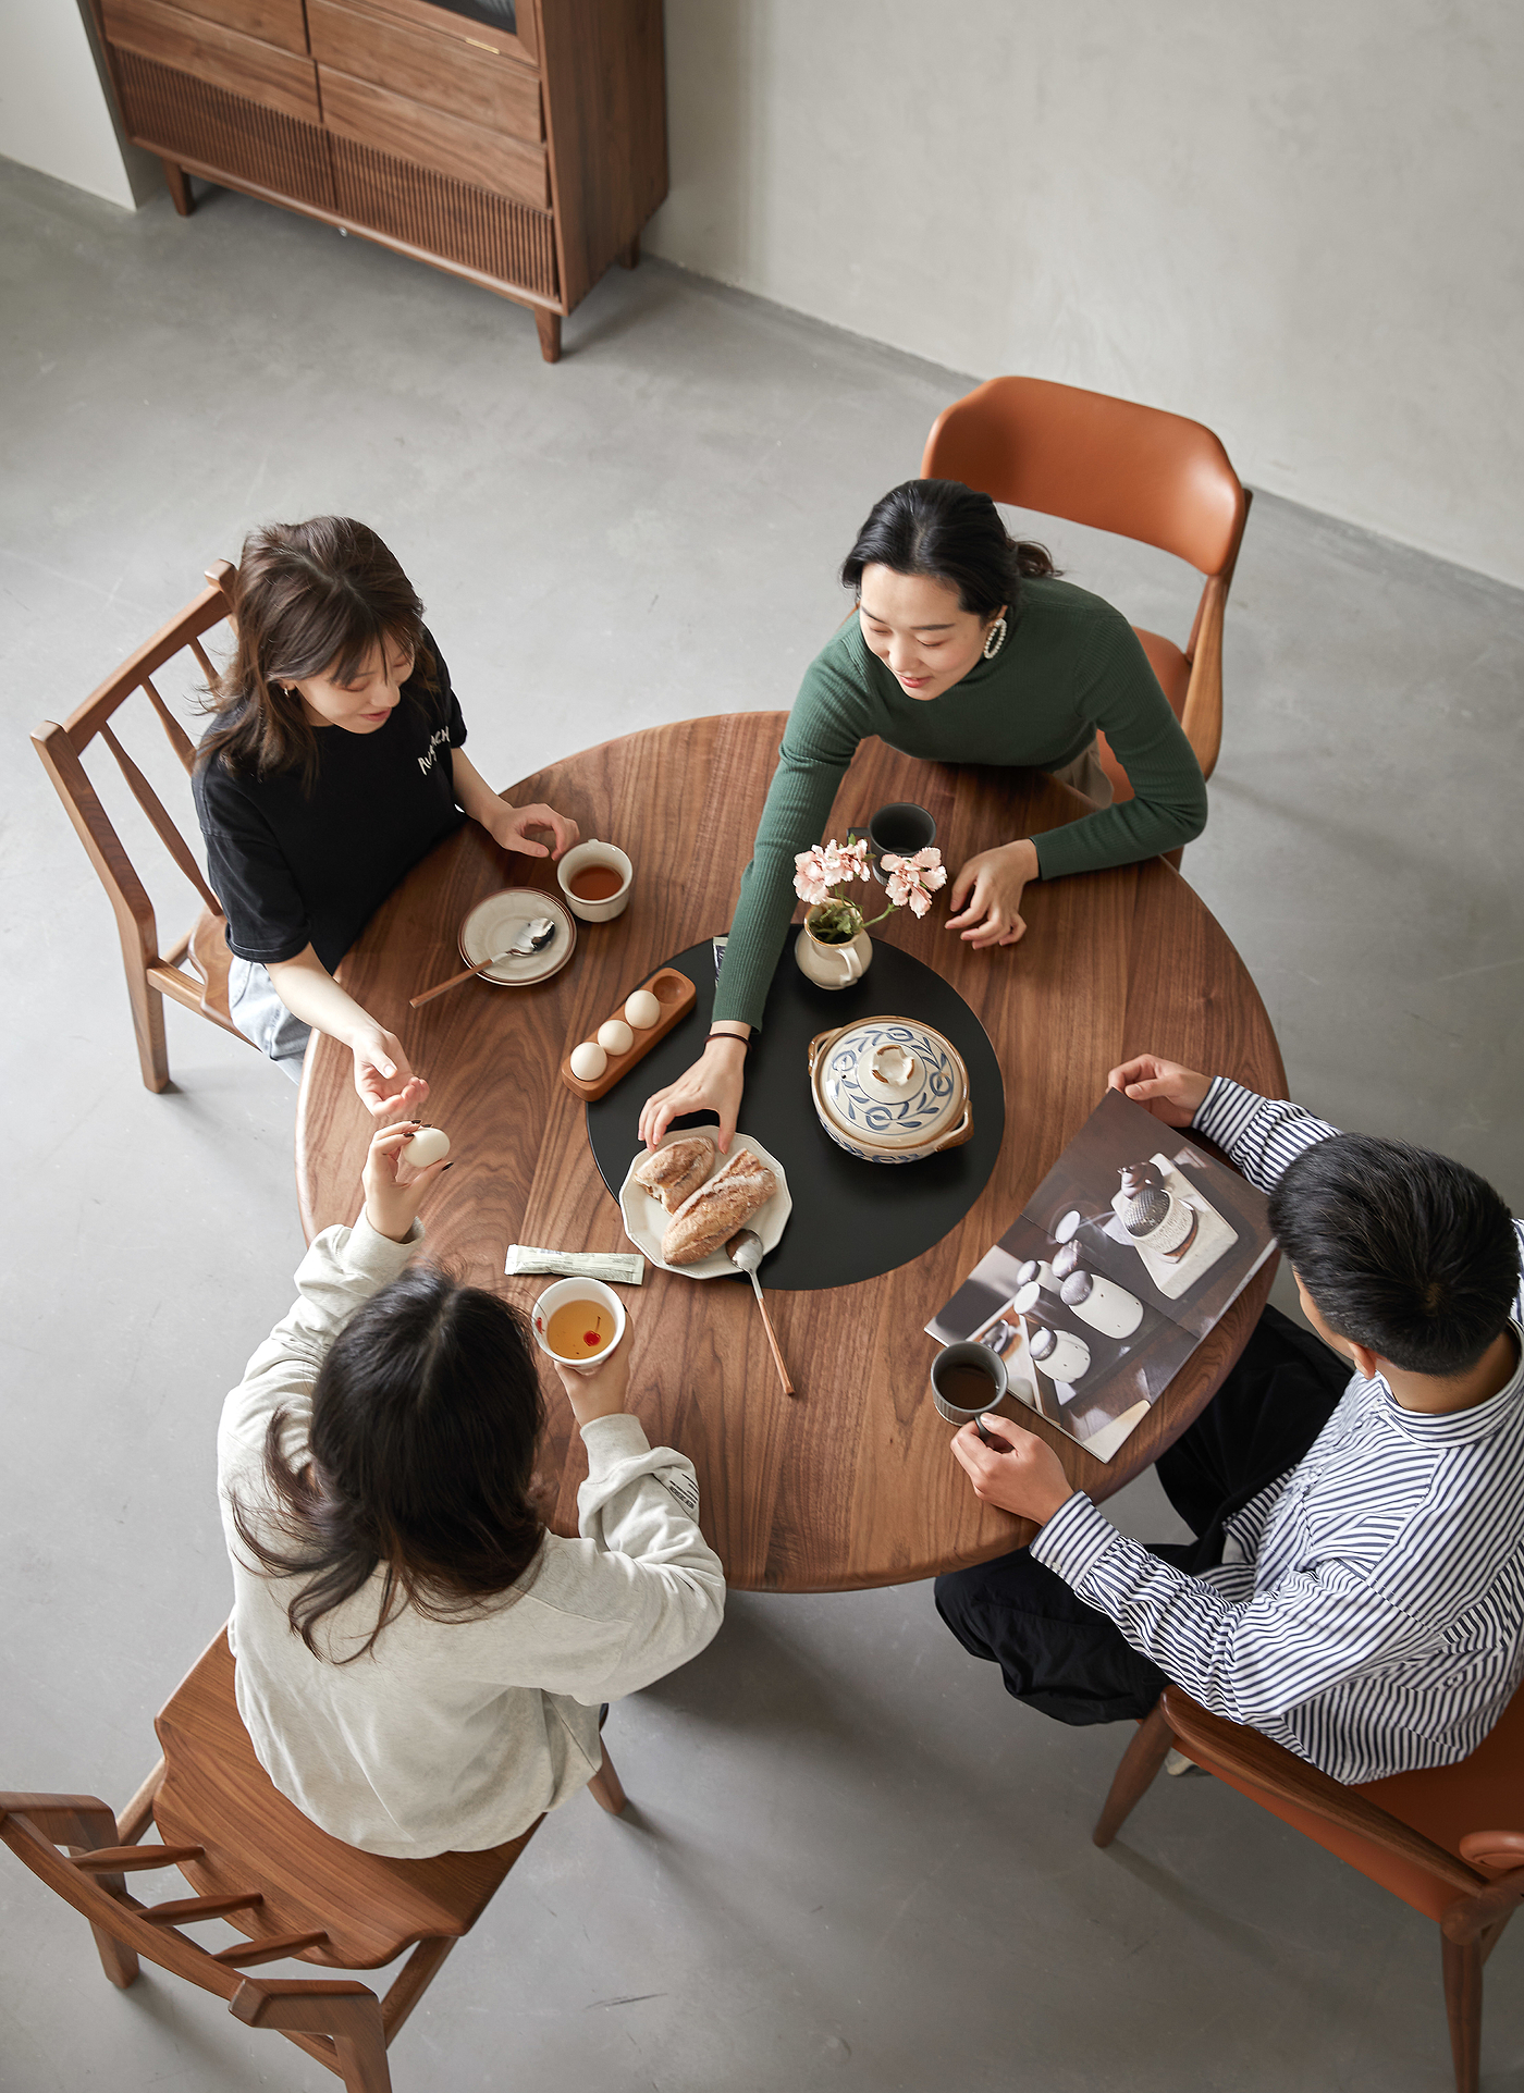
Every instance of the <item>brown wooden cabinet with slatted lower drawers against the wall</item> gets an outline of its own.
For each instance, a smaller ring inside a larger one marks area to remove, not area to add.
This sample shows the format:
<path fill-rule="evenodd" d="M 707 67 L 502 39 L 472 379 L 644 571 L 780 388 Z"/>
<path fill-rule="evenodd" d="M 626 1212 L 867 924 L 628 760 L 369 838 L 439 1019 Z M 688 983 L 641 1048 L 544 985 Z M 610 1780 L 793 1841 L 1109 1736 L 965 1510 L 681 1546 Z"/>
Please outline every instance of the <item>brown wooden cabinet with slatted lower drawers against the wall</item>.
<path fill-rule="evenodd" d="M 92 0 L 163 161 L 561 316 L 666 197 L 662 0 Z"/>

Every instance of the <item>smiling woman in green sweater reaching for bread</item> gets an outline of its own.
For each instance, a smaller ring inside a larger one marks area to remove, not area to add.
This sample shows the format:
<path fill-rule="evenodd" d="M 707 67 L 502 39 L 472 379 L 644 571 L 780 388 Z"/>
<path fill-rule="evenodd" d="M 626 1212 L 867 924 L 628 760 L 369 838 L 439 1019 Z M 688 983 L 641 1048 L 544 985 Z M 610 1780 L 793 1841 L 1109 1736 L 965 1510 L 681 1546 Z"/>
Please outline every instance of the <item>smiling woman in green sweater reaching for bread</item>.
<path fill-rule="evenodd" d="M 1047 770 L 1097 802 L 1093 814 L 967 858 L 946 929 L 994 948 L 1024 936 L 1028 879 L 1133 864 L 1206 827 L 1206 783 L 1137 634 L 1110 603 L 1059 582 L 1036 544 L 1017 544 L 988 494 L 906 479 L 877 502 L 842 563 L 856 617 L 804 672 L 772 774 L 703 1055 L 647 1099 L 641 1136 L 714 1111 L 720 1151 L 735 1134 L 747 1040 L 762 1026 L 793 915 L 793 858 L 823 839 L 860 741 L 942 764 Z M 1112 804 L 1097 728 L 1133 785 Z"/>

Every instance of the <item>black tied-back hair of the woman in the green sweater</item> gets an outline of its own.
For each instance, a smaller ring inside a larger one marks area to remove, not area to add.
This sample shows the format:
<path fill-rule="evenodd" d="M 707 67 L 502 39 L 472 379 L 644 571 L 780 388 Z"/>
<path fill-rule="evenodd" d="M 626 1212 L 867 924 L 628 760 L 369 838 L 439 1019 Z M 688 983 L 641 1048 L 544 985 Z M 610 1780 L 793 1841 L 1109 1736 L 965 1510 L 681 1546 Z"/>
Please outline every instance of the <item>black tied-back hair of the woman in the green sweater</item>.
<path fill-rule="evenodd" d="M 1013 617 L 1022 580 L 1057 573 L 1047 546 L 1011 538 L 990 496 L 961 479 L 904 479 L 873 502 L 842 561 L 842 586 L 860 592 L 865 567 L 946 582 L 959 607 L 982 620 L 1001 605 Z"/>

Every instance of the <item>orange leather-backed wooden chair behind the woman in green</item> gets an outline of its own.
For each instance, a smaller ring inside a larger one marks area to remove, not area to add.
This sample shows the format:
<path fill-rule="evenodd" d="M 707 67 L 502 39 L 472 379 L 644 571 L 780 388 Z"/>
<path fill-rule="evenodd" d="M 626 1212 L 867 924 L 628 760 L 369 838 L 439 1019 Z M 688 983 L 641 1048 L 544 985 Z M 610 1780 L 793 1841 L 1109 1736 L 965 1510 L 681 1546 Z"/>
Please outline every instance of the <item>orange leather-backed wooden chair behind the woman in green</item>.
<path fill-rule="evenodd" d="M 1210 779 L 1223 745 L 1223 615 L 1254 498 L 1212 431 L 1076 385 L 988 379 L 942 408 L 921 477 L 961 479 L 1013 509 L 1156 544 L 1206 576 L 1185 649 L 1133 630 Z M 1130 800 L 1105 735 L 1099 758 L 1116 797 Z"/>

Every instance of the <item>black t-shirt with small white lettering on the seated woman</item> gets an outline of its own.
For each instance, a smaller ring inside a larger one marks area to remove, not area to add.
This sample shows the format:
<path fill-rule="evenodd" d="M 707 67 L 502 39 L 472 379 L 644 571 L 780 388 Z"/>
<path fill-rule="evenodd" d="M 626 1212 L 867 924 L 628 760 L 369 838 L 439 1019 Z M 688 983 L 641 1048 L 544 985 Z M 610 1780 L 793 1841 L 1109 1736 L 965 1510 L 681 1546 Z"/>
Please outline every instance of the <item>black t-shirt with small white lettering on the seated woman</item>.
<path fill-rule="evenodd" d="M 220 758 L 197 766 L 195 800 L 211 890 L 239 959 L 272 965 L 312 944 L 333 973 L 387 894 L 461 827 L 450 749 L 465 720 L 444 655 L 425 632 L 435 689 L 421 674 L 373 735 L 318 726 L 318 777 L 234 777 Z"/>

